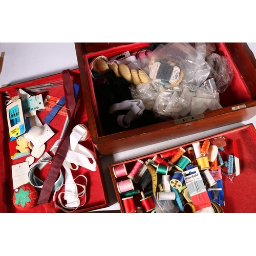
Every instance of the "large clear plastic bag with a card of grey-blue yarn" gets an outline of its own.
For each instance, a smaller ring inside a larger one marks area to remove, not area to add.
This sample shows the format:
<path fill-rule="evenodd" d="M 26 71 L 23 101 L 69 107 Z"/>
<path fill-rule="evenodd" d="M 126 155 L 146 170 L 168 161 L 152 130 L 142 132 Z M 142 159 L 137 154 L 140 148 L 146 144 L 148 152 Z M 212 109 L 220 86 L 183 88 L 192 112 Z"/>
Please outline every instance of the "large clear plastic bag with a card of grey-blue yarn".
<path fill-rule="evenodd" d="M 188 43 L 169 42 L 159 45 L 150 56 L 135 61 L 154 82 L 164 82 L 165 88 L 180 84 L 201 86 L 210 73 L 208 63 Z"/>

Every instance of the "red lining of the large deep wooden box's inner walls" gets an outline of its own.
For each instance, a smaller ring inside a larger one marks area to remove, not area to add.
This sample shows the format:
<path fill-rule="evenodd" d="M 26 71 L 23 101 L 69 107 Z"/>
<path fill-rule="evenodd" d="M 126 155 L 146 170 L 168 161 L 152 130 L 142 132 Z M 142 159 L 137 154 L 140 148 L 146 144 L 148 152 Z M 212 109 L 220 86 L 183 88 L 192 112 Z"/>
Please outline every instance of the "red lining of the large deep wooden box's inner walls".
<path fill-rule="evenodd" d="M 106 57 L 112 57 L 117 54 L 120 54 L 125 51 L 131 51 L 131 52 L 136 52 L 139 49 L 141 49 L 144 46 L 148 46 L 149 43 L 135 43 L 131 45 L 124 45 L 124 46 L 119 46 L 119 47 L 114 47 L 111 49 L 99 51 L 99 52 L 93 52 L 84 55 L 84 59 L 86 60 L 86 67 L 84 67 L 88 74 L 91 74 L 90 72 L 90 63 L 93 60 L 94 57 L 96 56 L 106 56 Z M 225 43 L 223 42 L 217 42 L 216 43 L 216 53 L 219 53 L 222 56 L 226 56 L 229 59 L 229 63 L 233 69 L 234 77 L 231 82 L 230 87 L 226 89 L 225 92 L 220 93 L 220 104 L 223 106 L 223 108 L 236 105 L 239 103 L 244 103 L 247 101 L 251 101 L 251 95 L 248 91 L 248 88 L 246 87 L 246 84 L 243 81 L 243 78 L 241 77 L 236 65 L 234 64 L 230 53 L 228 52 Z M 98 113 L 98 108 L 97 105 L 99 102 L 96 101 L 95 93 L 94 93 L 94 84 L 97 83 L 96 80 L 94 80 L 91 76 L 89 77 L 89 87 L 90 87 L 90 94 L 91 94 L 91 100 L 93 102 L 93 108 L 95 108 L 94 114 L 95 114 L 95 122 L 96 122 L 96 127 L 97 127 L 97 132 L 98 132 L 98 137 L 104 136 L 104 131 L 102 130 L 101 122 L 100 122 L 100 117 Z"/>

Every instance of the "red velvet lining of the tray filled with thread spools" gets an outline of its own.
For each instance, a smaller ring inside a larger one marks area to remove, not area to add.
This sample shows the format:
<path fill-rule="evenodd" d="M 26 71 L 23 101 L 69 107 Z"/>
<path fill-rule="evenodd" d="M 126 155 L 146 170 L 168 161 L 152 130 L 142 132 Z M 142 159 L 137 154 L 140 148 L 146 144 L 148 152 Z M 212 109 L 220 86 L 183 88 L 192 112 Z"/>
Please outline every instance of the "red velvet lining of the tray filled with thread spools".
<path fill-rule="evenodd" d="M 236 140 L 238 145 L 240 162 L 240 175 L 234 177 L 232 183 L 225 175 L 222 175 L 225 198 L 225 206 L 222 206 L 223 211 L 226 213 L 256 212 L 256 204 L 254 203 L 256 201 L 256 194 L 254 192 L 256 180 L 256 170 L 254 167 L 256 165 L 256 158 L 253 154 L 256 148 L 256 131 L 253 124 L 248 124 L 237 129 L 233 129 L 208 138 L 203 138 L 201 140 L 189 142 L 183 145 L 179 145 L 177 147 L 168 148 L 165 151 L 137 157 L 129 161 L 115 163 L 113 165 L 110 165 L 110 172 L 113 172 L 113 166 L 118 166 L 124 163 L 127 174 L 129 175 L 138 159 L 142 161 L 147 161 L 148 159 L 153 159 L 155 155 L 160 156 L 160 154 L 163 152 L 174 150 L 179 147 L 187 148 L 190 147 L 191 144 L 194 142 L 203 142 L 206 139 L 211 139 L 218 136 L 225 137 L 226 146 L 224 146 L 224 152 L 220 151 L 223 161 L 228 161 L 228 155 L 233 154 L 232 142 Z M 222 167 L 222 169 L 224 173 L 227 173 L 227 167 Z M 112 175 L 112 180 L 115 187 L 117 187 L 116 182 L 125 179 L 127 179 L 126 176 L 116 179 L 114 178 L 114 175 Z M 138 184 L 134 182 L 133 184 L 135 186 L 135 189 L 141 189 Z M 120 199 L 120 194 L 118 192 L 116 192 L 116 195 Z M 136 206 L 141 206 L 141 198 L 142 197 L 140 194 L 134 196 L 134 202 Z M 122 207 L 124 208 L 123 205 Z"/>

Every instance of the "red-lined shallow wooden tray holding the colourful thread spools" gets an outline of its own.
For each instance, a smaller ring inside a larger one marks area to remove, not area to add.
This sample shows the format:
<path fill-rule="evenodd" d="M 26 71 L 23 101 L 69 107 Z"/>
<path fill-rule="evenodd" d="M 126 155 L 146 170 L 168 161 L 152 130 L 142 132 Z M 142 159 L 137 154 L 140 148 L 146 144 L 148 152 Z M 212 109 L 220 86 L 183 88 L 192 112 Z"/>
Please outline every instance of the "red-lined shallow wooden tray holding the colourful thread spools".
<path fill-rule="evenodd" d="M 223 165 L 221 166 L 223 193 L 224 193 L 224 201 L 225 201 L 225 205 L 221 206 L 223 209 L 223 212 L 224 213 L 256 212 L 256 206 L 253 203 L 256 199 L 256 196 L 254 193 L 255 179 L 256 179 L 256 172 L 255 172 L 254 166 L 256 164 L 256 158 L 253 153 L 254 148 L 256 147 L 256 131 L 253 124 L 247 124 L 242 127 L 229 130 L 227 132 L 216 134 L 214 136 L 202 138 L 197 141 L 191 141 L 189 143 L 178 145 L 173 148 L 168 148 L 164 151 L 155 152 L 153 154 L 149 154 L 145 156 L 138 156 L 134 159 L 110 164 L 109 170 L 110 170 L 113 185 L 115 188 L 116 197 L 120 205 L 120 211 L 125 212 L 125 208 L 122 200 L 125 197 L 123 196 L 123 194 L 120 194 L 117 183 L 119 184 L 119 182 L 127 180 L 129 178 L 129 174 L 131 174 L 138 160 L 145 163 L 146 161 L 148 161 L 148 159 L 151 159 L 151 160 L 154 159 L 156 155 L 158 157 L 161 157 L 161 154 L 178 150 L 180 147 L 186 149 L 191 147 L 193 143 L 196 143 L 196 142 L 203 143 L 203 141 L 205 140 L 211 141 L 211 140 L 214 140 L 215 138 L 224 138 L 224 141 L 226 143 L 226 145 L 223 146 L 224 151 L 219 150 L 223 162 L 228 161 L 229 155 L 237 156 L 239 158 L 239 166 L 240 166 L 239 168 L 240 174 L 238 176 L 233 175 L 232 179 L 229 179 L 231 176 L 226 175 L 228 167 Z M 236 147 L 233 146 L 234 142 L 236 142 L 237 144 L 238 151 L 236 151 Z M 184 156 L 187 156 L 186 153 L 184 153 Z M 168 162 L 170 159 L 172 159 L 172 157 L 164 158 L 166 162 Z M 123 164 L 126 167 L 127 175 L 124 175 L 121 177 L 117 176 L 118 178 L 116 178 L 114 174 L 114 170 L 117 170 L 117 168 L 119 166 L 122 166 Z M 220 166 L 219 162 L 218 162 L 218 166 Z M 156 169 L 156 167 L 154 168 Z M 238 165 L 236 165 L 236 168 L 238 169 Z M 173 167 L 168 171 L 167 175 L 170 175 L 171 177 L 170 179 L 172 179 L 173 174 L 176 171 L 177 169 L 175 167 Z M 202 178 L 204 177 L 202 176 Z M 132 181 L 132 183 L 134 186 L 134 191 L 146 190 L 146 188 L 142 190 L 142 187 L 138 182 L 135 183 L 134 181 Z M 185 189 L 185 187 L 183 187 L 183 189 Z M 179 197 L 181 198 L 181 201 L 183 200 L 182 204 L 184 206 L 184 204 L 187 203 L 187 201 L 186 199 L 184 199 L 184 197 L 182 197 L 182 192 L 179 192 Z M 141 199 L 142 199 L 142 195 L 140 193 L 133 195 L 133 200 L 136 207 L 142 207 Z"/>

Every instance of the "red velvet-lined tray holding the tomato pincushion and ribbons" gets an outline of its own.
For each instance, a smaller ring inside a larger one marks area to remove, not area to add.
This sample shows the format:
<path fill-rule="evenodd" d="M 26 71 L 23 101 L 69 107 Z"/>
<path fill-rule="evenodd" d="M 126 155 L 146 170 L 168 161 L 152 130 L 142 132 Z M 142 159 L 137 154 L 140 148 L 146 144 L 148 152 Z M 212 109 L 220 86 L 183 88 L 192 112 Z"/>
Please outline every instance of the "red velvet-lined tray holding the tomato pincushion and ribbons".
<path fill-rule="evenodd" d="M 79 70 L 72 70 L 70 71 L 71 80 L 73 83 L 77 83 L 81 85 L 80 81 L 80 75 Z M 12 170 L 11 167 L 14 164 L 22 163 L 26 160 L 27 156 L 18 158 L 16 160 L 12 160 L 10 158 L 9 153 L 9 132 L 8 132 L 8 124 L 7 124 L 7 114 L 6 114 L 6 105 L 5 101 L 7 100 L 5 98 L 6 93 L 9 92 L 12 89 L 24 89 L 27 87 L 32 87 L 37 84 L 45 84 L 45 83 L 57 83 L 59 86 L 51 87 L 49 88 L 50 91 L 45 92 L 37 92 L 35 94 L 42 94 L 42 99 L 45 99 L 46 95 L 55 96 L 58 98 L 61 98 L 65 95 L 62 85 L 62 74 L 56 74 L 52 76 L 43 77 L 36 80 L 31 80 L 28 82 L 15 84 L 10 87 L 1 88 L 0 94 L 1 94 L 1 104 L 0 104 L 0 116 L 1 116 L 1 124 L 0 125 L 0 147 L 2 148 L 2 154 L 0 155 L 0 161 L 2 163 L 2 168 L 0 169 L 1 173 L 1 183 L 0 183 L 0 212 L 63 212 L 59 208 L 55 207 L 55 202 L 57 204 L 59 203 L 57 199 L 55 199 L 53 202 L 53 193 L 50 196 L 50 199 L 48 203 L 46 204 L 37 204 L 35 207 L 29 209 L 29 210 L 18 210 L 16 207 L 14 207 L 12 203 L 13 198 L 13 183 L 12 183 Z M 80 99 L 80 105 L 77 111 L 77 114 L 75 116 L 74 122 L 72 123 L 73 126 L 76 126 L 77 124 L 84 124 L 88 127 L 88 120 L 87 120 L 87 112 L 84 105 L 83 100 L 83 93 L 81 88 L 79 89 L 78 97 Z M 49 112 L 46 110 L 37 111 L 37 116 L 39 117 L 41 123 L 44 125 L 45 122 L 43 121 L 44 118 L 47 116 Z M 63 126 L 65 124 L 66 117 L 57 114 L 54 119 L 50 122 L 49 126 L 54 132 L 54 136 L 46 142 L 46 150 L 45 152 L 49 153 L 53 157 L 53 153 L 50 151 L 52 145 L 55 143 L 56 140 L 60 138 Z M 79 166 L 78 170 L 72 170 L 73 178 L 75 179 L 78 175 L 84 175 L 86 176 L 88 183 L 86 187 L 86 203 L 83 206 L 78 207 L 77 209 L 70 209 L 74 210 L 74 212 L 83 212 L 83 211 L 90 211 L 95 210 L 99 208 L 103 208 L 106 206 L 109 206 L 109 200 L 108 195 L 106 193 L 105 184 L 104 184 L 104 178 L 103 173 L 100 166 L 100 160 L 98 153 L 95 151 L 95 147 L 92 143 L 91 138 L 89 138 L 86 141 L 80 142 L 81 145 L 84 147 L 87 147 L 89 150 L 93 151 L 95 153 L 95 159 L 97 162 L 97 170 L 95 172 L 92 172 L 91 170 Z M 38 159 L 35 159 L 37 161 Z M 46 165 L 40 172 L 40 179 L 44 181 L 48 175 L 50 165 Z M 62 173 L 63 170 L 61 169 Z M 79 178 L 78 178 L 79 179 Z M 82 180 L 81 182 L 85 182 Z M 82 183 L 83 185 L 86 185 Z M 64 186 L 63 186 L 64 187 Z M 62 188 L 61 190 L 62 191 Z M 79 188 L 78 188 L 79 191 Z M 40 195 L 40 190 L 38 190 L 38 193 Z M 57 196 L 56 196 L 57 198 Z M 81 204 L 83 204 L 85 198 L 81 198 Z M 65 202 L 65 201 L 64 201 Z"/>

